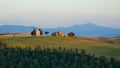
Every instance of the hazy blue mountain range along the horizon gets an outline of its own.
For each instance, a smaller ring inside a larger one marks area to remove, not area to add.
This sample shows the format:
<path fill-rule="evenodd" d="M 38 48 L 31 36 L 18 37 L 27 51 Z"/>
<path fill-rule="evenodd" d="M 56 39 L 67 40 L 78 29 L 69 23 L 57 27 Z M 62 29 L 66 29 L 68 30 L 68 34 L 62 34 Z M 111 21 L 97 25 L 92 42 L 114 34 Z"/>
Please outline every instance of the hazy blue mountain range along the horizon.
<path fill-rule="evenodd" d="M 30 33 L 35 26 L 19 26 L 19 25 L 3 25 L 0 26 L 0 33 Z M 83 25 L 74 25 L 71 27 L 59 28 L 40 28 L 43 31 L 49 31 L 50 34 L 55 31 L 60 31 L 67 34 L 74 32 L 76 36 L 85 37 L 120 37 L 120 29 L 98 26 L 95 24 L 87 23 Z"/>

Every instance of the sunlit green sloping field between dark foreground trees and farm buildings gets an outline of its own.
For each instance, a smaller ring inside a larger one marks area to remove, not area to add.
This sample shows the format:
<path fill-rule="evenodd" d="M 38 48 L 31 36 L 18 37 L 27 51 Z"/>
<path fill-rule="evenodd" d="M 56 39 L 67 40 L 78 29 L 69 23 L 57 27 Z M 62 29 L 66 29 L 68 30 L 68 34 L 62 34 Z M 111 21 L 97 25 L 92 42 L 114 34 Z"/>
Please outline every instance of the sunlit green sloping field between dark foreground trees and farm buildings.
<path fill-rule="evenodd" d="M 120 44 L 103 43 L 82 38 L 70 37 L 11 37 L 3 38 L 8 47 L 50 47 L 50 48 L 78 48 L 96 56 L 115 57 L 120 59 Z"/>

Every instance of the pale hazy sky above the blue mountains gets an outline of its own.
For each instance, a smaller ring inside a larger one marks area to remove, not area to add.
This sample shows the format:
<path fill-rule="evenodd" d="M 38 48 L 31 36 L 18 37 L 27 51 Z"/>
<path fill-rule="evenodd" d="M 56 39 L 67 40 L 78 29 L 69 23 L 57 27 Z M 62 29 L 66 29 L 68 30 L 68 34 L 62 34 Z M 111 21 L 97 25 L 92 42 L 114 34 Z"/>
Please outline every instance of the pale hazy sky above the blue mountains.
<path fill-rule="evenodd" d="M 0 25 L 120 28 L 120 0 L 0 0 Z"/>

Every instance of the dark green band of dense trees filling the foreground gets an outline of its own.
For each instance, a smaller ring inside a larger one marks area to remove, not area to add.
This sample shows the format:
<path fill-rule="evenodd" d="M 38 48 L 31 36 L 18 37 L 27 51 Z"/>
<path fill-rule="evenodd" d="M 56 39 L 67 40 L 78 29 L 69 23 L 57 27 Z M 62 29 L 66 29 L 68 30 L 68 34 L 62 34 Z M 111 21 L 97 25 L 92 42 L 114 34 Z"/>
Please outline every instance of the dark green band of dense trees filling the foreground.
<path fill-rule="evenodd" d="M 120 62 L 66 48 L 0 48 L 0 68 L 120 68 Z"/>

